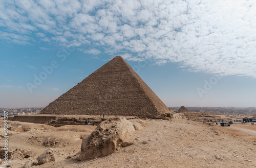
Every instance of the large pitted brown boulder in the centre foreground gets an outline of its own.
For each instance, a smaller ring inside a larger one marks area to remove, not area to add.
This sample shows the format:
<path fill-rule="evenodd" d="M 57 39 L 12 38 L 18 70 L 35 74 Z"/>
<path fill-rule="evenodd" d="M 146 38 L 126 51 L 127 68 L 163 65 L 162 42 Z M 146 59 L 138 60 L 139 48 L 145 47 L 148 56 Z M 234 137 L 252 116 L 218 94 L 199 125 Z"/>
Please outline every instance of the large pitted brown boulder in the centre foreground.
<path fill-rule="evenodd" d="M 138 125 L 139 122 L 133 123 Z M 83 138 L 78 160 L 114 153 L 118 144 L 135 131 L 133 123 L 124 117 L 110 118 L 102 122 L 88 138 Z"/>

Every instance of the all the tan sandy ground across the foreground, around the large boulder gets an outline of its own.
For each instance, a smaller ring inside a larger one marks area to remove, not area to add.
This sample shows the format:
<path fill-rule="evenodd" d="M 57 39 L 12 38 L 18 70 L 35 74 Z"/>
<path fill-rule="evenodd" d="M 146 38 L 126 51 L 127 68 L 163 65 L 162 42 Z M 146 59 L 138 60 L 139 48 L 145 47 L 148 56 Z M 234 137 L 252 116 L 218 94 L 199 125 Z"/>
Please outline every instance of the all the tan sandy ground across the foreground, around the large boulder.
<path fill-rule="evenodd" d="M 31 158 L 24 158 L 16 152 L 10 164 L 12 167 L 21 167 L 28 160 L 36 160 L 37 156 L 51 147 L 55 152 L 55 162 L 35 167 L 256 167 L 255 142 L 237 137 L 231 131 L 240 129 L 241 132 L 247 132 L 255 131 L 254 129 L 237 125 L 210 127 L 179 116 L 172 121 L 152 119 L 146 122 L 147 127 L 126 138 L 133 141 L 133 145 L 120 147 L 111 155 L 85 161 L 75 160 L 76 156 L 67 159 L 67 156 L 80 151 L 81 136 L 88 136 L 96 126 L 54 128 L 48 125 L 12 122 L 11 125 L 25 125 L 24 127 L 30 127 L 31 130 L 9 131 L 11 150 L 31 149 L 33 155 Z M 225 133 L 226 130 L 230 132 Z M 0 132 L 3 132 L 3 128 Z M 4 143 L 2 139 L 0 146 Z"/>

